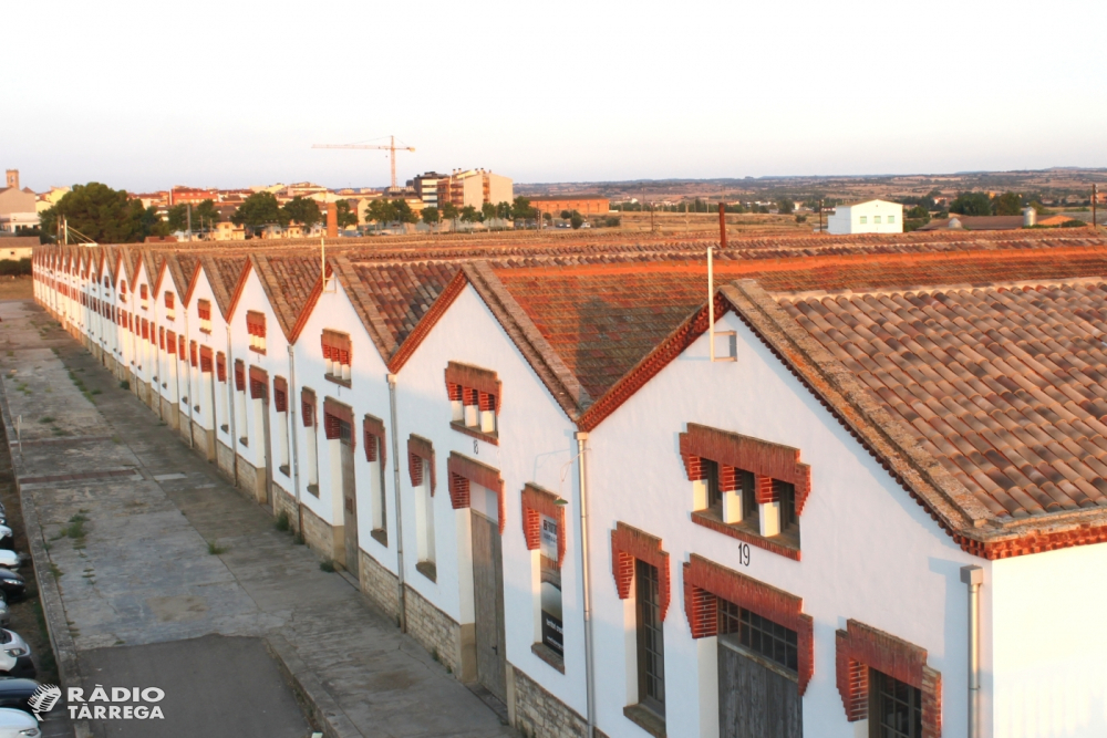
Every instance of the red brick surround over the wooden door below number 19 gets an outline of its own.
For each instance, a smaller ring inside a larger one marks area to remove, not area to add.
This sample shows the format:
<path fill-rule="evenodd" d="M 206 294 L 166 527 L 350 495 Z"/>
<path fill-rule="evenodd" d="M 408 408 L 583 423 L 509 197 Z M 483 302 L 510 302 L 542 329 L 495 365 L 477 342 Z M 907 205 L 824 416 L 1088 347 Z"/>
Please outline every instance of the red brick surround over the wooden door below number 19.
<path fill-rule="evenodd" d="M 684 614 L 693 638 L 718 635 L 718 600 L 766 617 L 796 632 L 799 694 L 815 674 L 815 620 L 804 614 L 804 600 L 733 569 L 692 554 L 684 564 Z"/>

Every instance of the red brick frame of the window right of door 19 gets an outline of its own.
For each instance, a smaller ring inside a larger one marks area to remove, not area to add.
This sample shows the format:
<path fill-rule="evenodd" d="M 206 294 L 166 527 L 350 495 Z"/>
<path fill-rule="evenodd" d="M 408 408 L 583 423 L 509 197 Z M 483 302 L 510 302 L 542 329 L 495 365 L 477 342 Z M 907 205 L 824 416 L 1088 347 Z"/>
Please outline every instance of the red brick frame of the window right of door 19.
<path fill-rule="evenodd" d="M 942 735 L 942 675 L 927 665 L 927 649 L 856 620 L 835 633 L 838 694 L 850 723 L 869 717 L 869 669 L 922 692 L 922 736 Z"/>

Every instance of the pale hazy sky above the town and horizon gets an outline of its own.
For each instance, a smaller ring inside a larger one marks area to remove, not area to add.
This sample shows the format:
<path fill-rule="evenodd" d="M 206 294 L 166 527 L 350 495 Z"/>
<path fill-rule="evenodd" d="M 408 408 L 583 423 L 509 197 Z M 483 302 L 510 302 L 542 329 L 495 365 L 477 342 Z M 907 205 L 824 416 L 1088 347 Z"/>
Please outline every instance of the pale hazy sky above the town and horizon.
<path fill-rule="evenodd" d="M 1107 2 L 0 0 L 34 189 L 1107 166 Z"/>

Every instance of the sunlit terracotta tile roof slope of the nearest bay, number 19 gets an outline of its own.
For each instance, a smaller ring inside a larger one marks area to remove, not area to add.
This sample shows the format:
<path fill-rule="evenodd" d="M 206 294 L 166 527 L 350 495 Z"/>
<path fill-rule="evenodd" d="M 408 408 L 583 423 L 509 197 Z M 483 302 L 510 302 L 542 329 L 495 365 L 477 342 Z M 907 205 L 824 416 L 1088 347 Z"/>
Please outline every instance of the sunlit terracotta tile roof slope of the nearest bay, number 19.
<path fill-rule="evenodd" d="M 993 514 L 1107 507 L 1101 280 L 782 304 Z"/>

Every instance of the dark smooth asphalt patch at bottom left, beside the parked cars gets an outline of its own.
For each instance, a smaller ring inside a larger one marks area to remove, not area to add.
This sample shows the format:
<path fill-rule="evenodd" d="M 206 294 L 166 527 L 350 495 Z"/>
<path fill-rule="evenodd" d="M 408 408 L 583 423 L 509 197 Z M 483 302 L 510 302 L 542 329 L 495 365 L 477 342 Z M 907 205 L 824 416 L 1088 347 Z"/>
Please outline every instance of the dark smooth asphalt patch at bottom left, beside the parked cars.
<path fill-rule="evenodd" d="M 266 736 L 303 738 L 303 714 L 260 638 L 207 635 L 145 646 L 95 648 L 81 654 L 94 684 L 156 685 L 164 720 L 107 720 L 110 738 Z M 234 689 L 227 689 L 227 685 Z"/>

